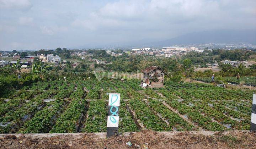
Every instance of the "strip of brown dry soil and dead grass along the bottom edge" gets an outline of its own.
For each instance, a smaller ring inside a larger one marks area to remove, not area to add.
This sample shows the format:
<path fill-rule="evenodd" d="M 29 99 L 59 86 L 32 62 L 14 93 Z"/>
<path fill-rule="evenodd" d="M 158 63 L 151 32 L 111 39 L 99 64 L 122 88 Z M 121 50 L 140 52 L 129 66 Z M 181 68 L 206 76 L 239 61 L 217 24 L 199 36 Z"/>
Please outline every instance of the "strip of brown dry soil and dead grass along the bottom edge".
<path fill-rule="evenodd" d="M 133 145 L 128 147 L 127 142 Z M 213 136 L 188 134 L 186 132 L 168 136 L 154 131 L 131 133 L 129 136 L 95 139 L 94 134 L 83 134 L 82 138 L 58 136 L 31 138 L 7 136 L 0 138 L 0 148 L 256 148 L 256 133 L 231 131 L 223 135 L 217 132 Z"/>

